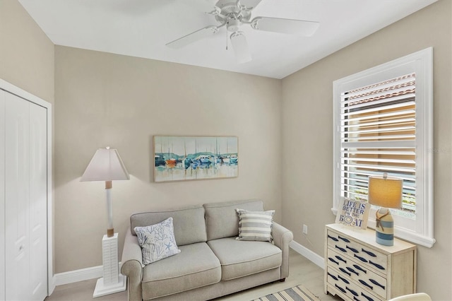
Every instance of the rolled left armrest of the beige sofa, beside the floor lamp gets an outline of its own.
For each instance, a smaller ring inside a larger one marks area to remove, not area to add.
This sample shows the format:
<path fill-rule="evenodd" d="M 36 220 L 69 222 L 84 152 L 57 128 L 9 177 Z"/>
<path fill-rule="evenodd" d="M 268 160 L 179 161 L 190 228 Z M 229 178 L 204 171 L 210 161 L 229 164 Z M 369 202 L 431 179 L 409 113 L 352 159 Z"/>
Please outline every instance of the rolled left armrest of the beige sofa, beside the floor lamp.
<path fill-rule="evenodd" d="M 128 300 L 142 300 L 141 279 L 143 278 L 143 255 L 138 238 L 126 231 L 122 249 L 121 274 L 127 276 Z"/>

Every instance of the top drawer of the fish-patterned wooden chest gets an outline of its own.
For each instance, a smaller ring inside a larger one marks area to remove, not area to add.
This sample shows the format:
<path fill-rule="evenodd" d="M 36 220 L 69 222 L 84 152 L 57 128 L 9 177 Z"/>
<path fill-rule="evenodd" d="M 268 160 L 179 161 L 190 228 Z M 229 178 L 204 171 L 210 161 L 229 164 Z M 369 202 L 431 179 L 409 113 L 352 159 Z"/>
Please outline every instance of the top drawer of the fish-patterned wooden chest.
<path fill-rule="evenodd" d="M 341 254 L 347 254 L 356 259 L 364 266 L 373 268 L 381 273 L 387 273 L 388 257 L 375 249 L 369 249 L 359 242 L 340 235 L 336 232 L 328 230 L 327 232 L 328 247 L 335 249 Z"/>

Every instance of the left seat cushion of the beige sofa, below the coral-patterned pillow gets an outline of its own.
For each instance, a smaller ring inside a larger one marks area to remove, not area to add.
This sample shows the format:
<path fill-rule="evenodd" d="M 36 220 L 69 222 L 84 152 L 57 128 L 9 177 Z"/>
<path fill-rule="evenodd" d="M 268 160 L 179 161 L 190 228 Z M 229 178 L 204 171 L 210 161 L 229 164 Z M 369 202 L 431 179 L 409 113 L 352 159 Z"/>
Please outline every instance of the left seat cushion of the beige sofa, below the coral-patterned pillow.
<path fill-rule="evenodd" d="M 143 268 L 143 300 L 218 283 L 221 267 L 206 242 L 179 247 L 181 253 Z"/>

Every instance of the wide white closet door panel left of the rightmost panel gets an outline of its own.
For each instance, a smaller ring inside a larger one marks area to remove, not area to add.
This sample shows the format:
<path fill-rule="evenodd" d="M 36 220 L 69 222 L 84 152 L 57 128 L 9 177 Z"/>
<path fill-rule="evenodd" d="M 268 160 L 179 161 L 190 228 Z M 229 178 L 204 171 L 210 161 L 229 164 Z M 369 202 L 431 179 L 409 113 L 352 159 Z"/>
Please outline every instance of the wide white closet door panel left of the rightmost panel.
<path fill-rule="evenodd" d="M 6 93 L 6 300 L 29 300 L 29 102 Z"/>

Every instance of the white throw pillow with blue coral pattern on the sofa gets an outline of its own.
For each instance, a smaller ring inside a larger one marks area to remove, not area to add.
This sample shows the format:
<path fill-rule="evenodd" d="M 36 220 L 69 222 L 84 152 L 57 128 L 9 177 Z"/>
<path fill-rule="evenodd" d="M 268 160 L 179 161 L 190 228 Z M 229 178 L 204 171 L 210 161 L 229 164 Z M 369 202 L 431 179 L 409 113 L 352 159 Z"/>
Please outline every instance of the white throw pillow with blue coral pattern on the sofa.
<path fill-rule="evenodd" d="M 174 238 L 172 218 L 167 218 L 155 225 L 135 227 L 133 230 L 141 246 L 143 264 L 150 264 L 181 252 Z"/>

